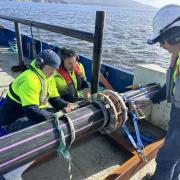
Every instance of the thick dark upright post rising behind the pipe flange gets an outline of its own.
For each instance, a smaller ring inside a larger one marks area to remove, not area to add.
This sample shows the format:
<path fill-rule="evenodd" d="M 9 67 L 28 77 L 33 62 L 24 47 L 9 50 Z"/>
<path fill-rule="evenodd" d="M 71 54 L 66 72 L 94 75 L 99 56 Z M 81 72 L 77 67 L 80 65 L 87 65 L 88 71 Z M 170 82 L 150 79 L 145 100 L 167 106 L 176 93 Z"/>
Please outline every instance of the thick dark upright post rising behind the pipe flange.
<path fill-rule="evenodd" d="M 94 34 L 94 44 L 93 44 L 93 62 L 92 62 L 92 74 L 91 74 L 92 94 L 97 92 L 99 86 L 104 17 L 105 17 L 104 11 L 96 12 L 96 24 L 95 24 L 95 34 Z"/>

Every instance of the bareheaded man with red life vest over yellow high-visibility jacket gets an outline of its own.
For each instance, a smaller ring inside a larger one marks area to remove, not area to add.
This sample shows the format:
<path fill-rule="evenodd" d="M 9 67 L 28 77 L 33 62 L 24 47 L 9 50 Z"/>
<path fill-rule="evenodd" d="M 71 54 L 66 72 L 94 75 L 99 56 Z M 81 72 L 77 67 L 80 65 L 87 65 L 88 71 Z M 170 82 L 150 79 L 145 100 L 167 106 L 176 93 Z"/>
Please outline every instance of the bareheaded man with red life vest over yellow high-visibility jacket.
<path fill-rule="evenodd" d="M 88 100 L 91 97 L 91 93 L 86 81 L 84 67 L 78 62 L 76 51 L 62 48 L 60 57 L 61 65 L 54 78 L 61 97 L 69 102 L 76 102 L 81 97 Z M 83 96 L 81 96 L 81 90 Z"/>

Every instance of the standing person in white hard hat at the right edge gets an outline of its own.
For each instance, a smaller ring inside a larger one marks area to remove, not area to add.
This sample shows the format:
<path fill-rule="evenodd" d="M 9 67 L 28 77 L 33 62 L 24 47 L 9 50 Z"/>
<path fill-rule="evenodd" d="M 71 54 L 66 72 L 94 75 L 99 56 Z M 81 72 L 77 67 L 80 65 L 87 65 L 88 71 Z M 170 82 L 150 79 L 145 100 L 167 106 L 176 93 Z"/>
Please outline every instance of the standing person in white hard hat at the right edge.
<path fill-rule="evenodd" d="M 171 54 L 167 70 L 166 84 L 151 100 L 171 103 L 170 120 L 164 145 L 156 157 L 154 174 L 147 174 L 144 180 L 178 180 L 180 179 L 180 6 L 162 7 L 153 19 L 153 36 L 149 44 L 159 42 L 160 46 Z M 143 102 L 148 104 L 151 102 Z M 162 117 L 163 118 L 163 117 Z"/>

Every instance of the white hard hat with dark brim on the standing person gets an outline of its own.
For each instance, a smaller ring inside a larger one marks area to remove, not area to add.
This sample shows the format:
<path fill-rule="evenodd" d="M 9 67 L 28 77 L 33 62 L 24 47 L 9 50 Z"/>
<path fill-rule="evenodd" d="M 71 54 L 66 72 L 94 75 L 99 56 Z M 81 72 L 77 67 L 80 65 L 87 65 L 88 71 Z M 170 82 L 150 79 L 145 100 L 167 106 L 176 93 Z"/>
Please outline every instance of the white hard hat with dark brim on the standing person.
<path fill-rule="evenodd" d="M 171 4 L 162 7 L 153 19 L 153 34 L 148 43 L 156 43 L 164 31 L 175 26 L 180 26 L 180 6 Z"/>

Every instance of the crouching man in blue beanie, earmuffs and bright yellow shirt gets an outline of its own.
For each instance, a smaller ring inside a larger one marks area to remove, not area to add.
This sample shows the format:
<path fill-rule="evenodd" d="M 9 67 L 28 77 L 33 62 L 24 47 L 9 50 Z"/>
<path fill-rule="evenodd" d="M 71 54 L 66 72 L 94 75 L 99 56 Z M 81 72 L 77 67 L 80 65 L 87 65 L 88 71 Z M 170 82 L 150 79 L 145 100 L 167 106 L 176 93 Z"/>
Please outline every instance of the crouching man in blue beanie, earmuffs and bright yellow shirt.
<path fill-rule="evenodd" d="M 46 110 L 48 101 L 56 110 L 71 110 L 71 104 L 60 98 L 52 76 L 60 61 L 54 51 L 44 50 L 28 70 L 17 76 L 0 107 L 0 127 L 6 126 L 12 132 L 47 120 L 54 115 Z"/>

